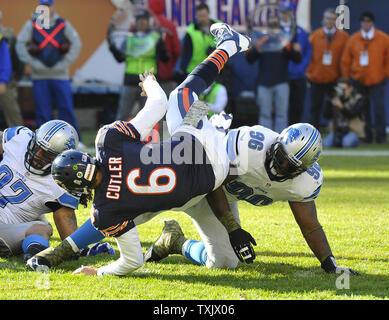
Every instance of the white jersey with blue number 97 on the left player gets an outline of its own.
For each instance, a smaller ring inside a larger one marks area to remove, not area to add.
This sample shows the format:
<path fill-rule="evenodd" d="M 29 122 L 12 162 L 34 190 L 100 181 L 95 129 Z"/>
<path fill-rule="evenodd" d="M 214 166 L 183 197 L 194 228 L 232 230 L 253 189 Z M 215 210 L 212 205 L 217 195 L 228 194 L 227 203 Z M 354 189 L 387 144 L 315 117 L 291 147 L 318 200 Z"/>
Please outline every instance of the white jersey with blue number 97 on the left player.
<path fill-rule="evenodd" d="M 51 175 L 30 173 L 24 165 L 33 132 L 26 127 L 8 128 L 3 133 L 0 163 L 0 223 L 16 224 L 38 220 L 56 207 L 78 207 L 79 199 L 59 187 Z M 58 206 L 59 205 L 59 206 Z"/>

